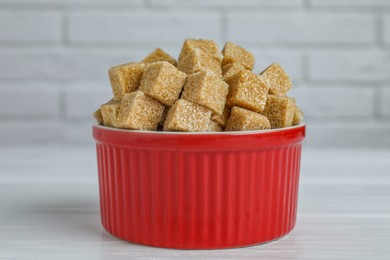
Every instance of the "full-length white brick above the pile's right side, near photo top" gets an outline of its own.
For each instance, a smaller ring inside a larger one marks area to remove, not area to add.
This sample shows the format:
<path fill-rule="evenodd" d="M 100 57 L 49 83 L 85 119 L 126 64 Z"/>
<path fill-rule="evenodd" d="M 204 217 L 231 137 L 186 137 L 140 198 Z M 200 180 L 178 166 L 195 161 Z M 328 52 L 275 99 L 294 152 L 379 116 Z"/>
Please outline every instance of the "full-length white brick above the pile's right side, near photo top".
<path fill-rule="evenodd" d="M 238 43 L 368 44 L 375 40 L 370 14 L 266 13 L 228 18 L 228 38 Z"/>

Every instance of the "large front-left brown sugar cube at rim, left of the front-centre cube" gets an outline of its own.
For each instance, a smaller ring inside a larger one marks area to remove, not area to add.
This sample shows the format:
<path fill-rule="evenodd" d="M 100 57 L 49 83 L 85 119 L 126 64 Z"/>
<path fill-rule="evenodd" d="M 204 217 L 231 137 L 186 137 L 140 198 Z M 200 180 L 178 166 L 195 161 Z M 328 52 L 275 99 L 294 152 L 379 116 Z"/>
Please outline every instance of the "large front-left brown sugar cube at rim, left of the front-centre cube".
<path fill-rule="evenodd" d="M 142 91 L 124 94 L 115 126 L 137 130 L 156 130 L 163 111 L 164 105 Z"/>

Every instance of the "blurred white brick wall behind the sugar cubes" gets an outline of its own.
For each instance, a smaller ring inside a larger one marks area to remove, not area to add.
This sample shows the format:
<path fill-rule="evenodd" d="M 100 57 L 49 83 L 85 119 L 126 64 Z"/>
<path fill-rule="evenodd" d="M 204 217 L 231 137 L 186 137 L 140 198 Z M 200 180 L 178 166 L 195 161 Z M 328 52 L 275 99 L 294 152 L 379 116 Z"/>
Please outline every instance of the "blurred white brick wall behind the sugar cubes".
<path fill-rule="evenodd" d="M 185 38 L 279 62 L 309 147 L 390 147 L 389 0 L 0 0 L 0 145 L 92 145 L 107 69 Z"/>

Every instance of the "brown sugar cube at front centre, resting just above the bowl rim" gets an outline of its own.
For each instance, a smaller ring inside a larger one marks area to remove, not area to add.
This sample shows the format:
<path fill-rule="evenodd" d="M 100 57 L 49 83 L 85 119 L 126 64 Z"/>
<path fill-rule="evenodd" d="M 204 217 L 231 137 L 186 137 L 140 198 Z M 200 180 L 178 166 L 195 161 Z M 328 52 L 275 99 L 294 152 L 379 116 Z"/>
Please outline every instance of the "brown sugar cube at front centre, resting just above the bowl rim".
<path fill-rule="evenodd" d="M 211 111 L 184 99 L 169 109 L 164 131 L 205 132 L 210 123 Z"/>

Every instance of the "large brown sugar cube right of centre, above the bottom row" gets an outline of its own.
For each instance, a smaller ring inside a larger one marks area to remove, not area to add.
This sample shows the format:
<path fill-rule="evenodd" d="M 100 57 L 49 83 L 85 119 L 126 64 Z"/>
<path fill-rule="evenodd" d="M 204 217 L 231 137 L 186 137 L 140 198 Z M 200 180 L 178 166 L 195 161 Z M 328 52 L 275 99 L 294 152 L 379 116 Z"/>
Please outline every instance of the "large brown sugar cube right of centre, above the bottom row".
<path fill-rule="evenodd" d="M 256 75 L 248 70 L 236 73 L 227 81 L 229 84 L 229 94 L 226 104 L 229 107 L 239 106 L 262 112 L 267 101 L 268 86 Z"/>

